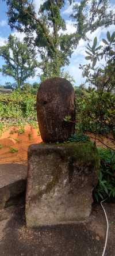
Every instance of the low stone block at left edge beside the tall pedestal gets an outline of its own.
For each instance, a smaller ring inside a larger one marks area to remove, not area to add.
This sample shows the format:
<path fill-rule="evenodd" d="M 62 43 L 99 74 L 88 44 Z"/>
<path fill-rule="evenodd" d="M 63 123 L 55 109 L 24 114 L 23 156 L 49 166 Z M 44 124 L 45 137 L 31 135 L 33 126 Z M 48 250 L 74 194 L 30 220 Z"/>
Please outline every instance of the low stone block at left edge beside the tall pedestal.
<path fill-rule="evenodd" d="M 26 188 L 27 167 L 23 164 L 0 165 L 0 209 L 16 204 Z"/>

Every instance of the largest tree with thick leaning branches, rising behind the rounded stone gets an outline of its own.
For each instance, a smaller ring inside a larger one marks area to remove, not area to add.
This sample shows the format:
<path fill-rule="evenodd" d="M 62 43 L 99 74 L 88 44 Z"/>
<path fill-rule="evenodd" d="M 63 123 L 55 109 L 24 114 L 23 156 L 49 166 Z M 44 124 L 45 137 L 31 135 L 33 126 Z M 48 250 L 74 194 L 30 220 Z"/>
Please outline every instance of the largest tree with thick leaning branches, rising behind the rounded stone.
<path fill-rule="evenodd" d="M 114 13 L 108 12 L 108 0 L 81 0 L 74 5 L 76 32 L 66 33 L 66 21 L 61 10 L 66 0 L 47 0 L 36 13 L 33 1 L 5 0 L 8 6 L 9 25 L 26 33 L 26 41 L 38 47 L 41 57 L 39 67 L 44 76 L 59 76 L 61 67 L 70 63 L 70 57 L 79 40 L 86 33 L 114 23 Z M 70 4 L 72 0 L 69 1 Z M 33 32 L 36 34 L 33 42 Z"/>

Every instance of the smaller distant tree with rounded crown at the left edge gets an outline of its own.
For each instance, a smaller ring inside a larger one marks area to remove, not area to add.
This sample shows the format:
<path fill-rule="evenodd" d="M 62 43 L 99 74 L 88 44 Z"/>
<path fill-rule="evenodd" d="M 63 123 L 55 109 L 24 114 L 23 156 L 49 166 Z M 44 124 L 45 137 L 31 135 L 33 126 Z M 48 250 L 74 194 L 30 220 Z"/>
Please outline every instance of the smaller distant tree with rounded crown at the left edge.
<path fill-rule="evenodd" d="M 35 55 L 36 52 L 32 47 L 10 35 L 5 46 L 0 47 L 0 56 L 5 60 L 5 65 L 0 71 L 3 75 L 13 77 L 17 87 L 20 88 L 27 78 L 34 76 L 38 66 Z"/>

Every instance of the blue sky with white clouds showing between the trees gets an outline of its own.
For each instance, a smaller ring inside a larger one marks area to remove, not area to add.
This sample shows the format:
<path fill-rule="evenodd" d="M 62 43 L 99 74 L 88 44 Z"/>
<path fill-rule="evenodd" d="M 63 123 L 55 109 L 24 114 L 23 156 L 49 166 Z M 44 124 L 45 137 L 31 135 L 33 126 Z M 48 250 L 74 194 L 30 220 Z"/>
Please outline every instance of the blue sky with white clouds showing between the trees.
<path fill-rule="evenodd" d="M 42 3 L 44 0 L 33 0 L 35 6 L 36 6 L 36 11 L 38 9 L 38 3 L 40 6 L 40 3 Z M 112 9 L 115 8 L 115 1 L 111 0 L 110 4 L 112 6 Z M 5 41 L 7 40 L 7 37 L 9 36 L 10 33 L 15 34 L 20 40 L 22 40 L 23 36 L 21 33 L 18 33 L 16 31 L 11 31 L 9 25 L 7 24 L 7 16 L 6 16 L 6 11 L 7 11 L 7 7 L 6 7 L 6 3 L 2 0 L 0 0 L 0 46 L 3 46 L 3 44 L 5 44 Z M 68 1 L 66 3 L 66 6 L 64 7 L 64 9 L 62 10 L 62 15 L 63 17 L 66 19 L 66 24 L 67 24 L 67 31 L 66 33 L 71 33 L 72 31 L 75 31 L 75 27 L 73 24 L 71 24 L 69 15 L 72 11 L 72 7 L 70 5 L 68 5 Z M 109 28 L 99 28 L 97 29 L 97 31 L 95 31 L 94 33 L 88 33 L 88 37 L 90 40 L 93 40 L 95 36 L 97 36 L 98 39 L 98 43 L 101 42 L 103 37 L 106 37 L 106 32 L 110 31 L 110 33 L 112 33 L 113 31 L 115 31 L 115 26 L 112 25 Z M 87 63 L 87 61 L 85 60 L 85 50 L 87 46 L 87 42 L 81 40 L 79 42 L 78 47 L 76 48 L 76 50 L 74 51 L 74 53 L 72 54 L 72 57 L 70 59 L 70 65 L 65 67 L 65 71 L 68 71 L 71 76 L 74 77 L 75 80 L 75 85 L 79 85 L 81 84 L 84 79 L 82 78 L 82 73 L 81 70 L 79 70 L 79 64 L 85 64 Z M 38 57 L 39 58 L 39 57 Z M 0 67 L 2 67 L 4 61 L 3 59 L 0 57 Z M 27 82 L 38 82 L 39 81 L 39 77 L 38 77 L 38 71 L 36 71 L 36 76 L 34 78 L 29 78 L 27 80 Z M 11 77 L 8 76 L 3 76 L 2 73 L 0 73 L 0 84 L 3 85 L 5 84 L 5 82 L 14 82 L 14 80 Z"/>

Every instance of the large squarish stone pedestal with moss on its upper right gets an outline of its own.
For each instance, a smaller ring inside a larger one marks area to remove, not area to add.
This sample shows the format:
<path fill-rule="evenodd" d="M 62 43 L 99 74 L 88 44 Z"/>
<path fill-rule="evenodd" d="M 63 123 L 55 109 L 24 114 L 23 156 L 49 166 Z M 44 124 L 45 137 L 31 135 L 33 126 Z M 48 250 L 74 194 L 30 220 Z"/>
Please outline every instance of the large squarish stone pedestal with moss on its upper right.
<path fill-rule="evenodd" d="M 97 149 L 90 141 L 29 146 L 27 227 L 87 220 L 98 167 Z"/>

